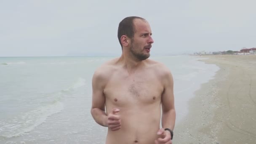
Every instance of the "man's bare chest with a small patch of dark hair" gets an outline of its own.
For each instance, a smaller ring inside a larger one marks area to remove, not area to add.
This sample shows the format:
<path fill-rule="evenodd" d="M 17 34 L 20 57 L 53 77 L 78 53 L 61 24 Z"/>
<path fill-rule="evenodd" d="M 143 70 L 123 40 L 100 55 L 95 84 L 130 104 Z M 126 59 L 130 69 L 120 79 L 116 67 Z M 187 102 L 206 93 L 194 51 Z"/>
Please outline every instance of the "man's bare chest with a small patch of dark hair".
<path fill-rule="evenodd" d="M 162 92 L 163 85 L 154 75 L 114 75 L 104 89 L 106 100 L 117 106 L 152 104 L 160 101 Z"/>

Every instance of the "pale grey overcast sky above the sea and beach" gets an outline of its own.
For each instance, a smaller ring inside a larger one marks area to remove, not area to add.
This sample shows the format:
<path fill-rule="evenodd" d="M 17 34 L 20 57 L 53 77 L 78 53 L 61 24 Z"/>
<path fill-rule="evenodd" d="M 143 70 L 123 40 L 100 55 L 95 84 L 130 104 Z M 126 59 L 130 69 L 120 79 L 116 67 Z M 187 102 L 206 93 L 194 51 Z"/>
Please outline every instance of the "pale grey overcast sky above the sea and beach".
<path fill-rule="evenodd" d="M 256 47 L 256 0 L 1 0 L 0 56 L 120 55 L 126 16 L 149 21 L 151 54 Z"/>

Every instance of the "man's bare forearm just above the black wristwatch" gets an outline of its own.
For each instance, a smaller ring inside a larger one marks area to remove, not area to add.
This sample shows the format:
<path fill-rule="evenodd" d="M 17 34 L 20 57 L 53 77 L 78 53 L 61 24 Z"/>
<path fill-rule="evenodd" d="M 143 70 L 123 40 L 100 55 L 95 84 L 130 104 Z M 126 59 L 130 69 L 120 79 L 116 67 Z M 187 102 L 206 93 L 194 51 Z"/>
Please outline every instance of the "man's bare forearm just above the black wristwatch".
<path fill-rule="evenodd" d="M 170 128 L 171 130 L 174 129 L 176 120 L 176 112 L 175 109 L 171 109 L 169 111 L 163 111 L 162 115 L 162 127 L 163 128 Z"/>

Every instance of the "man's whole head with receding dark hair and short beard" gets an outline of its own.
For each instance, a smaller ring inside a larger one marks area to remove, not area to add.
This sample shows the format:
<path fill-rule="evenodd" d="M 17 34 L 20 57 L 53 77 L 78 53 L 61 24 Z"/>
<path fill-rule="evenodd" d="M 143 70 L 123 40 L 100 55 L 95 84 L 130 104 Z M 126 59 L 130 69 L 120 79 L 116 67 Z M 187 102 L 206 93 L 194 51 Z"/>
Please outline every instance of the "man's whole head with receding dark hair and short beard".
<path fill-rule="evenodd" d="M 149 23 L 137 16 L 126 17 L 119 23 L 117 37 L 123 48 L 139 60 L 147 59 L 154 43 Z"/>

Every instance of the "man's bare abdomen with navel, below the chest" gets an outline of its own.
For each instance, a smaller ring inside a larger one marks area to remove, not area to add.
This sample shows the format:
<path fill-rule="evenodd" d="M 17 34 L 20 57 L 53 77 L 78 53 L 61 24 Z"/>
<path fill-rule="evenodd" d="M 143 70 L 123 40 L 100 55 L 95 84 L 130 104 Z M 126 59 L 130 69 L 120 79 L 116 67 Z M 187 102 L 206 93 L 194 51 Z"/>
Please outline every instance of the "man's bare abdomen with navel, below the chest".
<path fill-rule="evenodd" d="M 106 144 L 154 144 L 160 128 L 160 106 L 123 108 L 119 115 L 121 129 L 109 130 Z"/>

